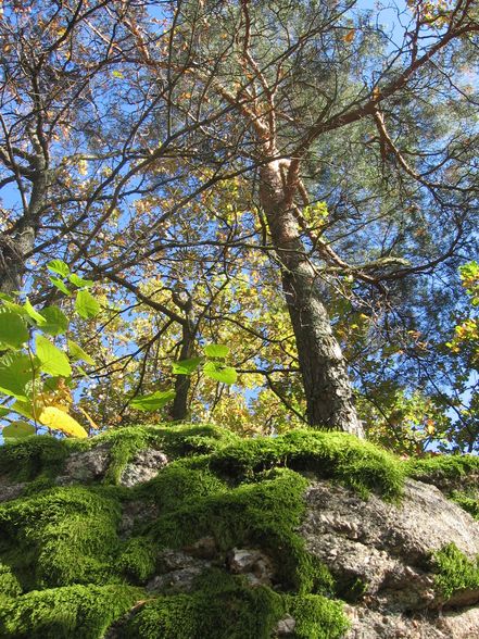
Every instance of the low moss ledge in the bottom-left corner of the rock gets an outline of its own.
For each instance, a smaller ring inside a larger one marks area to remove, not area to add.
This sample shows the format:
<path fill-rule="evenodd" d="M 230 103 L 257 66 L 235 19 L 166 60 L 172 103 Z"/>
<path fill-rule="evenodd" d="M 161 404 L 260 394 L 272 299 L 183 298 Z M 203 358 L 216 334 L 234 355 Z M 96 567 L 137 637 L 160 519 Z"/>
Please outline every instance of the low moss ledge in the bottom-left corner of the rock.
<path fill-rule="evenodd" d="M 101 639 L 141 598 L 126 586 L 71 586 L 2 600 L 0 636 L 15 639 Z"/>

